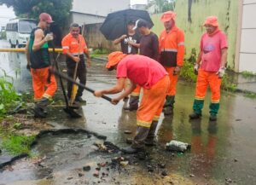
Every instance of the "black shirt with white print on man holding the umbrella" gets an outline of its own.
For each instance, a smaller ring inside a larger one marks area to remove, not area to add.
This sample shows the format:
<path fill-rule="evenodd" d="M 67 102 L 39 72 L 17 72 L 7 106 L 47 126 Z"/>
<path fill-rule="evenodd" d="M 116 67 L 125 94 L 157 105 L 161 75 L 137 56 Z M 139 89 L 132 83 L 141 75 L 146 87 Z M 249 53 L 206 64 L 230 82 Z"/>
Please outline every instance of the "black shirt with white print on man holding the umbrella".
<path fill-rule="evenodd" d="M 134 35 L 128 35 L 121 41 L 121 49 L 124 54 L 137 54 L 138 48 L 128 44 L 128 41 L 140 43 L 140 35 L 136 32 Z"/>

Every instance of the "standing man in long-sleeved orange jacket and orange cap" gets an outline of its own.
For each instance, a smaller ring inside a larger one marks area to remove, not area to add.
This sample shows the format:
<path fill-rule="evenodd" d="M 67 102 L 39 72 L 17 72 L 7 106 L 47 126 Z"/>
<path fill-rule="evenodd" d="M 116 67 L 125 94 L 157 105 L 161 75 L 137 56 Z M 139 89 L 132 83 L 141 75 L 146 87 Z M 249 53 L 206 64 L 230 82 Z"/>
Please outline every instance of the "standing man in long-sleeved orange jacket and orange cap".
<path fill-rule="evenodd" d="M 177 77 L 183 66 L 183 58 L 185 53 L 184 33 L 175 25 L 176 14 L 167 11 L 161 16 L 165 30 L 160 33 L 160 63 L 169 73 L 171 81 L 170 90 L 166 95 L 166 103 L 164 105 L 165 115 L 173 113 L 173 104 L 175 102 Z"/>

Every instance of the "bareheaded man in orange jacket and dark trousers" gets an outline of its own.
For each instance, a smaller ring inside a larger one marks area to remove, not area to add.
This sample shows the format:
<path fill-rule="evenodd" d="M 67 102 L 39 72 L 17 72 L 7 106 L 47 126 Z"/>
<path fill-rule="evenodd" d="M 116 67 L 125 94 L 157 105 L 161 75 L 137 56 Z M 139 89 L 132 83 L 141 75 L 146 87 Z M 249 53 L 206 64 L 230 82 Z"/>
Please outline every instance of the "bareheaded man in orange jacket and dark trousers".
<path fill-rule="evenodd" d="M 80 28 L 79 24 L 77 23 L 72 23 L 69 29 L 69 33 L 67 36 L 65 36 L 62 41 L 62 49 L 63 49 L 63 54 L 67 55 L 67 75 L 70 78 L 73 78 L 74 72 L 75 72 L 75 66 L 76 62 L 79 62 L 79 66 L 77 69 L 77 77 L 79 78 L 80 84 L 86 84 L 86 65 L 85 65 L 85 60 L 84 60 L 84 54 L 87 57 L 87 63 L 88 66 L 90 66 L 90 55 L 89 51 L 87 49 L 87 45 L 84 41 L 84 38 L 81 34 L 79 34 Z M 71 94 L 73 90 L 73 83 L 72 82 L 67 82 L 67 96 L 70 99 Z M 82 99 L 84 88 L 79 87 L 79 90 L 77 92 L 77 95 L 75 96 L 74 101 L 77 102 L 83 102 L 85 103 Z"/>

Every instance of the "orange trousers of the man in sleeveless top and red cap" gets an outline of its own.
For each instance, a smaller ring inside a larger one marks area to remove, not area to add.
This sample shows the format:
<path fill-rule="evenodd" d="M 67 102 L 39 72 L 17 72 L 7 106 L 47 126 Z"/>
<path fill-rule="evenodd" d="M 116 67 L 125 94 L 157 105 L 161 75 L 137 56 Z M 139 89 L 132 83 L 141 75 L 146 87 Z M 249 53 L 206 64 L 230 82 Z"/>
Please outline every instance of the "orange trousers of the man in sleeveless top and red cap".
<path fill-rule="evenodd" d="M 57 90 L 57 83 L 53 74 L 50 75 L 50 82 L 47 82 L 49 67 L 31 69 L 31 74 L 34 101 L 40 101 L 43 97 L 50 100 Z"/>

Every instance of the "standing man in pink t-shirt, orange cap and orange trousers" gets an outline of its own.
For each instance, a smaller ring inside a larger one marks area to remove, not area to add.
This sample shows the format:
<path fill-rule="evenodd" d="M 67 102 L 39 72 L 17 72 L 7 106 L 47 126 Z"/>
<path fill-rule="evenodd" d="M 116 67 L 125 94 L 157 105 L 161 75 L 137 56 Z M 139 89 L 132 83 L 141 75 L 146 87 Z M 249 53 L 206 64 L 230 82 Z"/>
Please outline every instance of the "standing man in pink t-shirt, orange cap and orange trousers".
<path fill-rule="evenodd" d="M 194 113 L 191 113 L 189 118 L 201 118 L 201 109 L 209 85 L 212 92 L 209 119 L 215 121 L 219 109 L 221 79 L 224 76 L 227 62 L 228 43 L 226 35 L 218 28 L 216 16 L 207 17 L 204 26 L 207 32 L 201 37 L 200 53 L 194 67 L 195 73 L 198 73 L 193 105 Z"/>

